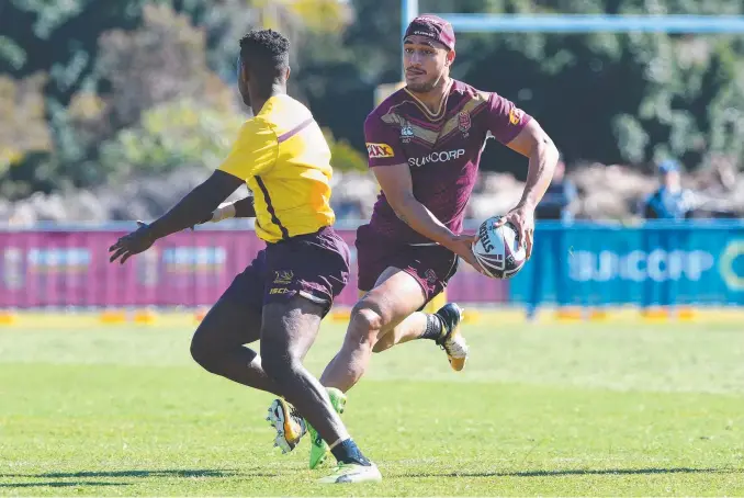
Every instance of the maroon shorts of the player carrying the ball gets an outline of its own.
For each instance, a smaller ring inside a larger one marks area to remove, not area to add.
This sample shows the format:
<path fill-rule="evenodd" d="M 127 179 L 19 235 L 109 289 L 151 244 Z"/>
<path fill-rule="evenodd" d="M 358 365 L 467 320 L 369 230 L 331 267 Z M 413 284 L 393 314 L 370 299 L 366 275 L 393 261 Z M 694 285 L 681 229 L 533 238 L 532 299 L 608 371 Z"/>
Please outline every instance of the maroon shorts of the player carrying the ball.
<path fill-rule="evenodd" d="M 441 246 L 409 246 L 376 234 L 369 225 L 357 229 L 359 290 L 367 292 L 387 268 L 410 274 L 426 294 L 427 303 L 442 292 L 458 271 L 458 257 Z"/>

